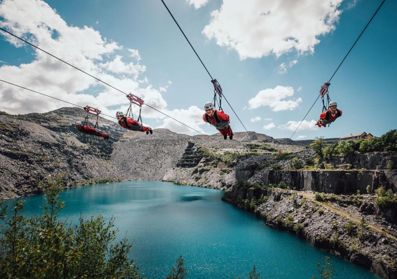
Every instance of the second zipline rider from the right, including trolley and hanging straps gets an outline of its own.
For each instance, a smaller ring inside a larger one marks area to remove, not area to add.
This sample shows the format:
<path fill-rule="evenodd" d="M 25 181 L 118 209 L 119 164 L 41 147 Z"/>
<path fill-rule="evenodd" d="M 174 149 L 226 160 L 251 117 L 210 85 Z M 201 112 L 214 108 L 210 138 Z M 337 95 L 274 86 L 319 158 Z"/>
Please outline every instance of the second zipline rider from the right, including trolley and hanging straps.
<path fill-rule="evenodd" d="M 214 85 L 214 99 L 212 100 L 214 105 L 212 105 L 212 102 L 205 103 L 205 113 L 202 115 L 202 119 L 218 129 L 221 135 L 224 136 L 224 139 L 227 139 L 227 136 L 229 136 L 229 139 L 233 139 L 233 131 L 231 131 L 229 125 L 229 115 L 225 114 L 222 110 L 222 87 L 216 79 L 213 79 L 211 82 Z M 219 96 L 219 102 L 217 94 Z M 216 103 L 218 103 L 219 110 L 215 108 Z"/>

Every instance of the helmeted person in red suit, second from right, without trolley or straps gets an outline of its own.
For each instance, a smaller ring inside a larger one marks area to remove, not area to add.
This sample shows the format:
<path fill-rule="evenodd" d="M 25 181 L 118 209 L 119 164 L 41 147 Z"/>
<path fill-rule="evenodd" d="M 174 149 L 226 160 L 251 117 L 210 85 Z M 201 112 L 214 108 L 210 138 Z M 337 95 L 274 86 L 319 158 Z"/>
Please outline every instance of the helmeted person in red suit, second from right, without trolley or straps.
<path fill-rule="evenodd" d="M 214 126 L 224 136 L 224 139 L 233 139 L 233 132 L 229 125 L 229 115 L 225 114 L 222 110 L 216 110 L 211 102 L 204 105 L 205 114 L 202 119 Z"/>

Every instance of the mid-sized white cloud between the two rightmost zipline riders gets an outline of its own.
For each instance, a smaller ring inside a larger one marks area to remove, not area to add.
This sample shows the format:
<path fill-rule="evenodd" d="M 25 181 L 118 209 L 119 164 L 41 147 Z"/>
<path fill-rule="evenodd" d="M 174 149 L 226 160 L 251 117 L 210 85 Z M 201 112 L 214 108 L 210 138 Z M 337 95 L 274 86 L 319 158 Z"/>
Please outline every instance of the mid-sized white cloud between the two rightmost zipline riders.
<path fill-rule="evenodd" d="M 302 102 L 302 98 L 296 100 L 282 100 L 291 97 L 294 94 L 292 87 L 276 86 L 274 89 L 268 88 L 261 90 L 256 96 L 248 101 L 249 108 L 259 108 L 261 106 L 270 106 L 274 112 L 280 110 L 293 110 Z"/>

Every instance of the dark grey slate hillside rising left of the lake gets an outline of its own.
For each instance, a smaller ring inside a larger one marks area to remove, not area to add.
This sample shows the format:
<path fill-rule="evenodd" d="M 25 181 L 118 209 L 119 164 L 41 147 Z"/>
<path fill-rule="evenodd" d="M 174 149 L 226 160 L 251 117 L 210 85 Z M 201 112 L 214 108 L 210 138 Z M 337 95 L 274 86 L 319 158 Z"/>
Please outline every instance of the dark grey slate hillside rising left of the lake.
<path fill-rule="evenodd" d="M 89 179 L 120 178 L 107 159 L 123 129 L 100 117 L 110 140 L 81 134 L 73 123 L 85 115 L 79 108 L 0 114 L 0 198 L 41 193 L 40 181 L 48 175 L 63 174 L 66 187 Z"/>

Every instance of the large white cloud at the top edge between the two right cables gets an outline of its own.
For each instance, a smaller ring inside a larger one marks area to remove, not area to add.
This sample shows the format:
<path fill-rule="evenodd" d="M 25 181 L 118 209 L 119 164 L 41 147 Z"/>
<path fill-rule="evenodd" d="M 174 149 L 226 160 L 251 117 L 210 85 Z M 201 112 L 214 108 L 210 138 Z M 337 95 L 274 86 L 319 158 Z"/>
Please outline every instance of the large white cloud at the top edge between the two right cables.
<path fill-rule="evenodd" d="M 193 0 L 188 0 L 193 1 Z M 202 33 L 234 49 L 241 60 L 296 51 L 313 53 L 318 36 L 333 31 L 342 0 L 223 0 Z"/>

